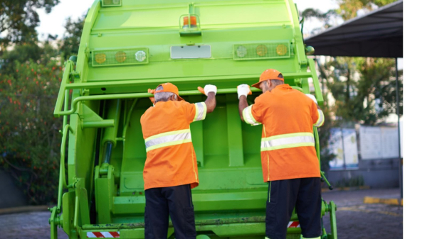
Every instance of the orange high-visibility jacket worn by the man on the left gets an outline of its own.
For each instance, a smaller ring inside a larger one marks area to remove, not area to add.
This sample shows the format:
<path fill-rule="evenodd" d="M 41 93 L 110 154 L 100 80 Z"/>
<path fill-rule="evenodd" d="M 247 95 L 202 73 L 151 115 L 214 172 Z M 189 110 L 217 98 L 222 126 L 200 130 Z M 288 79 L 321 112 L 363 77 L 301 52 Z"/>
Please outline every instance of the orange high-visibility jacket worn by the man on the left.
<path fill-rule="evenodd" d="M 199 185 L 196 153 L 191 143 L 190 123 L 204 120 L 206 104 L 160 101 L 141 116 L 147 160 L 144 189 Z"/>

